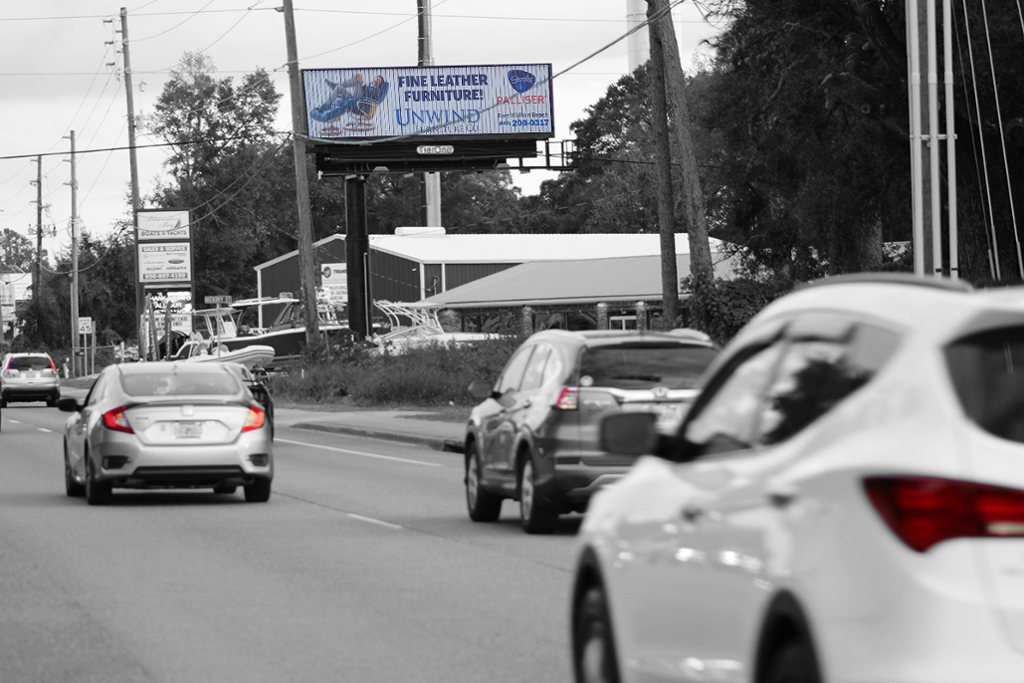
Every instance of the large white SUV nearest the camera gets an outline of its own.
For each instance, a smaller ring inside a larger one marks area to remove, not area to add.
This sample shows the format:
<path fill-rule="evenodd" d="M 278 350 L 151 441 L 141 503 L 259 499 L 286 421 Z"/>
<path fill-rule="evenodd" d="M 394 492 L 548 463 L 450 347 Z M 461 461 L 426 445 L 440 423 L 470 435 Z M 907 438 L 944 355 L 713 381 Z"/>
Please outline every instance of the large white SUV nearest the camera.
<path fill-rule="evenodd" d="M 843 276 L 767 306 L 676 435 L 602 423 L 653 457 L 581 526 L 575 680 L 1020 679 L 1022 369 L 1020 288 Z"/>

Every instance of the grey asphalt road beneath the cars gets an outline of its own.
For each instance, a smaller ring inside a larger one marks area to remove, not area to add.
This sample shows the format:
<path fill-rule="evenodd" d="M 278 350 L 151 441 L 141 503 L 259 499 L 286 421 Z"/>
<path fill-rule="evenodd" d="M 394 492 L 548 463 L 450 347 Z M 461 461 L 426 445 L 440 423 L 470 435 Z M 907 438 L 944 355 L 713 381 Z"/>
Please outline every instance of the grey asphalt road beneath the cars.
<path fill-rule="evenodd" d="M 2 683 L 569 681 L 579 518 L 465 513 L 461 457 L 279 427 L 266 504 L 63 493 L 67 414 L 3 410 Z"/>

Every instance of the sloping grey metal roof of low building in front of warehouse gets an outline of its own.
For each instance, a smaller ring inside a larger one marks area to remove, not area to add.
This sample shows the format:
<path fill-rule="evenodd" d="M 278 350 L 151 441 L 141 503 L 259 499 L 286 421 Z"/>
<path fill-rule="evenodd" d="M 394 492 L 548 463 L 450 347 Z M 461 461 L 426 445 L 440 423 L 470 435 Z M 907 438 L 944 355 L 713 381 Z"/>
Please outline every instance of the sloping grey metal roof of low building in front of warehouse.
<path fill-rule="evenodd" d="M 688 254 L 676 255 L 679 278 L 690 272 Z M 731 278 L 727 260 L 715 265 Z M 477 308 L 568 303 L 662 300 L 662 257 L 632 256 L 565 261 L 531 261 L 423 300 L 444 308 Z"/>

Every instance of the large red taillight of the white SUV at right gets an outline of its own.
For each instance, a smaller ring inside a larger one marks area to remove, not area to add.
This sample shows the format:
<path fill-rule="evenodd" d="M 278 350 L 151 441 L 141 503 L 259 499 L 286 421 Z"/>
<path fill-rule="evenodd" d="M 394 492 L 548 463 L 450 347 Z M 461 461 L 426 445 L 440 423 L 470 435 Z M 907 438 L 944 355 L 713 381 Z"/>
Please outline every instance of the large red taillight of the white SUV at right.
<path fill-rule="evenodd" d="M 921 476 L 864 479 L 889 528 L 923 553 L 949 539 L 1024 537 L 1024 490 Z"/>

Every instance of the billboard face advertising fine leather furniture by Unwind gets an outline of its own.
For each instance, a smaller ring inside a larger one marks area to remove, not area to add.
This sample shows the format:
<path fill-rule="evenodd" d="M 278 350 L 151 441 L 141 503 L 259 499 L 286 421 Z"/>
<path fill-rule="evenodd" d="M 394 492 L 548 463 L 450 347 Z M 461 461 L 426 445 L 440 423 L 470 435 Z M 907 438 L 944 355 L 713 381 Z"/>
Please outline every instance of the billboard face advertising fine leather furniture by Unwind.
<path fill-rule="evenodd" d="M 554 135 L 551 65 L 384 67 L 302 72 L 309 136 Z"/>

